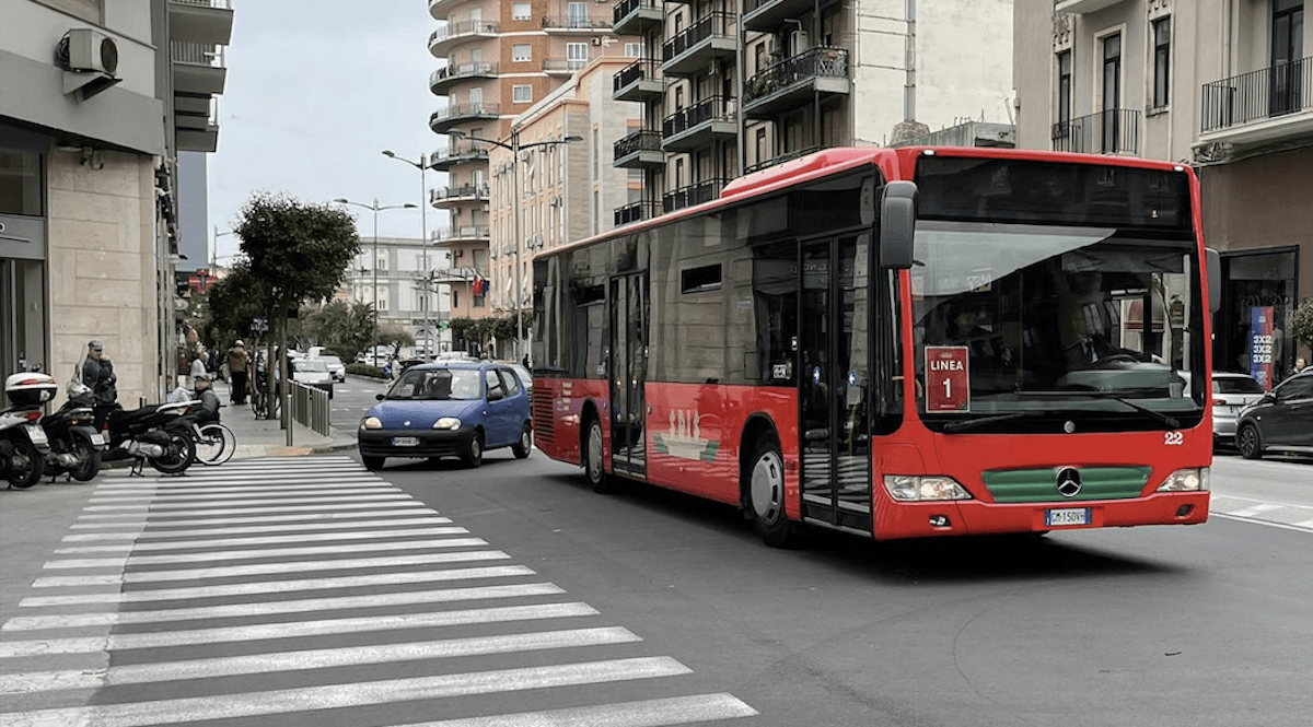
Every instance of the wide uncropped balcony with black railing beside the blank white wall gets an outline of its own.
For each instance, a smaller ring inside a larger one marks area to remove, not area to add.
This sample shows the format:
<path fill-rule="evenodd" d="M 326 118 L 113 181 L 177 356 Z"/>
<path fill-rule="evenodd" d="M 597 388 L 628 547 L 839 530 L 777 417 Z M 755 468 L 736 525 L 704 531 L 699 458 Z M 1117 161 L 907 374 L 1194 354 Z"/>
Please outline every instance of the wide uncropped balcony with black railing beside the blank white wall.
<path fill-rule="evenodd" d="M 809 105 L 817 96 L 847 96 L 848 49 L 807 49 L 767 67 L 743 85 L 743 115 L 769 118 Z"/>

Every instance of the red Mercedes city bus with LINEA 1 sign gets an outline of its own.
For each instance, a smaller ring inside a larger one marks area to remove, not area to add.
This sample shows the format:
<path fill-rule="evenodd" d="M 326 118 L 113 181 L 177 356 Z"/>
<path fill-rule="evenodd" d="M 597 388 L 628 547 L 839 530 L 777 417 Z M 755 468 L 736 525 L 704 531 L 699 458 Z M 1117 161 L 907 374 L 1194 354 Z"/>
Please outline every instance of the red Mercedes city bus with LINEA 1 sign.
<path fill-rule="evenodd" d="M 1200 230 L 1186 165 L 819 151 L 534 259 L 536 444 L 773 546 L 1204 522 Z"/>

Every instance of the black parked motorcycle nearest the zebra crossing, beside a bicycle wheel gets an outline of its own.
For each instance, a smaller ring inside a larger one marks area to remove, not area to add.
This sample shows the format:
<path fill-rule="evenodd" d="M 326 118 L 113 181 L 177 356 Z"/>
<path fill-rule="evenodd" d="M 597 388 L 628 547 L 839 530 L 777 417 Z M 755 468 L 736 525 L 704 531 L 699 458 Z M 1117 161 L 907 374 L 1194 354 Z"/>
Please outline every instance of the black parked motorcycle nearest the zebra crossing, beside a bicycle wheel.
<path fill-rule="evenodd" d="M 119 404 L 93 404 L 91 392 L 74 399 L 76 405 L 91 405 L 96 419 L 105 423 L 109 434 L 109 451 L 101 459 L 134 458 L 133 474 L 142 474 L 142 465 L 150 462 L 165 475 L 186 471 L 196 458 L 196 442 L 192 441 L 192 424 L 186 415 L 192 413 L 196 402 L 175 404 L 147 404 L 137 409 L 125 409 Z"/>

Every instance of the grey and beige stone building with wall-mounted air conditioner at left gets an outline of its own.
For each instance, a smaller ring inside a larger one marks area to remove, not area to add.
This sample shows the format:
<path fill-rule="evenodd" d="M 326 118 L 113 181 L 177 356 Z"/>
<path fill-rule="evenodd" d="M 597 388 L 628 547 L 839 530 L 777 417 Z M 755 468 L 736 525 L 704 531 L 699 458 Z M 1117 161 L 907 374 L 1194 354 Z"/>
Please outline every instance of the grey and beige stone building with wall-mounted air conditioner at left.
<path fill-rule="evenodd" d="M 227 0 L 0 0 L 0 374 L 100 339 L 122 402 L 172 388 L 179 155 L 215 148 L 231 31 Z"/>

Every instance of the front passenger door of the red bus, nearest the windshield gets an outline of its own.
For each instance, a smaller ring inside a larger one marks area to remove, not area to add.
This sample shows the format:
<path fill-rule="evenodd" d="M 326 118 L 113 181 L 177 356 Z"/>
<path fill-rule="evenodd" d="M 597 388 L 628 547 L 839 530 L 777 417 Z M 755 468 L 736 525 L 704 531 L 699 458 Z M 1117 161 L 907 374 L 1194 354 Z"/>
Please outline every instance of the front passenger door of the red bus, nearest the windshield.
<path fill-rule="evenodd" d="M 798 433 L 802 517 L 871 534 L 869 238 L 802 245 Z"/>

